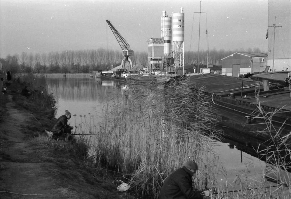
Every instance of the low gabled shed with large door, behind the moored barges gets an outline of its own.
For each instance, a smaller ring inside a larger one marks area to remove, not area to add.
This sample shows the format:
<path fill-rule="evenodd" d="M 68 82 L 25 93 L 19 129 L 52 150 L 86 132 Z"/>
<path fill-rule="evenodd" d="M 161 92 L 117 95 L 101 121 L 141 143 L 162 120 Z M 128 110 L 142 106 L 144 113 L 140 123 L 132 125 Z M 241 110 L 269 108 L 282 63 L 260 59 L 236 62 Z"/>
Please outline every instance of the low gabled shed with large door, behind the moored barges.
<path fill-rule="evenodd" d="M 267 53 L 234 53 L 221 59 L 221 74 L 239 77 L 248 73 L 265 71 Z"/>

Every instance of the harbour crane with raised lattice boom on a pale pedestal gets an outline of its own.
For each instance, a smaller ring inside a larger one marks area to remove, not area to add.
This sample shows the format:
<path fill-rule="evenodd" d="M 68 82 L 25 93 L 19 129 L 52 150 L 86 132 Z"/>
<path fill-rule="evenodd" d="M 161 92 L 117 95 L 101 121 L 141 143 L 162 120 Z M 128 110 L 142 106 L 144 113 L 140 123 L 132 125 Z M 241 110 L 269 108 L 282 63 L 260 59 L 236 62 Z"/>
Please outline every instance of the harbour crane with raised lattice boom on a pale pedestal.
<path fill-rule="evenodd" d="M 134 52 L 133 50 L 130 49 L 130 46 L 129 44 L 125 41 L 125 39 L 120 35 L 120 33 L 114 28 L 114 26 L 110 23 L 109 20 L 106 20 L 107 24 L 109 25 L 111 31 L 113 32 L 116 40 L 118 41 L 121 49 L 123 50 L 123 53 L 122 55 L 124 56 L 123 60 L 121 61 L 121 69 L 125 69 L 125 63 L 126 61 L 129 62 L 129 67 L 130 69 L 133 68 L 132 66 L 132 61 L 131 59 L 129 58 L 129 56 L 133 56 L 134 55 Z"/>

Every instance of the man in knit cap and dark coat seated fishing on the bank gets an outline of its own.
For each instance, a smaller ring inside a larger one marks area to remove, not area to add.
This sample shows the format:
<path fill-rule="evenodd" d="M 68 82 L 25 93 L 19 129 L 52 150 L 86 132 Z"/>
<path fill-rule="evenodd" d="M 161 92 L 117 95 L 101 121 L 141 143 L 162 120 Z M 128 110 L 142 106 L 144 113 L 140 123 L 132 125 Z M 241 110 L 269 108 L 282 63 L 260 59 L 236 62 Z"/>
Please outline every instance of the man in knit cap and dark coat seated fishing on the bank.
<path fill-rule="evenodd" d="M 52 138 L 57 140 L 64 140 L 68 137 L 68 140 L 71 140 L 72 137 L 69 136 L 71 134 L 71 130 L 74 128 L 72 126 L 68 125 L 68 120 L 71 118 L 71 113 L 66 110 L 65 115 L 60 116 L 56 123 L 54 124 L 54 127 L 52 128 Z"/>

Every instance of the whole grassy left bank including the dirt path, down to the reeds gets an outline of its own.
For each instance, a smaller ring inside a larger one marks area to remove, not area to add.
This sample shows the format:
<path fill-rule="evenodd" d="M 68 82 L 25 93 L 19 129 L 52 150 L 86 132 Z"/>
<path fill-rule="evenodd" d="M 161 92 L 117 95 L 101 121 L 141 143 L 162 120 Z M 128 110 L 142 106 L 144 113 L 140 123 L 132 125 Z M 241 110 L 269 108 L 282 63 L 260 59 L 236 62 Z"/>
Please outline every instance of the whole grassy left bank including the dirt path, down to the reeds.
<path fill-rule="evenodd" d="M 47 137 L 55 110 L 38 109 L 41 95 L 20 95 L 24 84 L 11 83 L 0 97 L 0 198 L 132 198 L 92 163 L 86 141 L 72 145 Z"/>

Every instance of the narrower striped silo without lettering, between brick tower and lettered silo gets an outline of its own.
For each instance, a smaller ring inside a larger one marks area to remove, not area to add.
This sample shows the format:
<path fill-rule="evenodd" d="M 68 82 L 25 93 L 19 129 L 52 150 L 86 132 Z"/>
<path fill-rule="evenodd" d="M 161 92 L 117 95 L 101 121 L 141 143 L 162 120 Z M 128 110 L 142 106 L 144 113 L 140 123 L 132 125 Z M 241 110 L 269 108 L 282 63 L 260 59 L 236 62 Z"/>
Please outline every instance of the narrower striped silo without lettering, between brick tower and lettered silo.
<path fill-rule="evenodd" d="M 161 37 L 164 37 L 164 54 L 171 55 L 171 17 L 166 16 L 166 11 L 163 10 L 161 17 Z"/>

